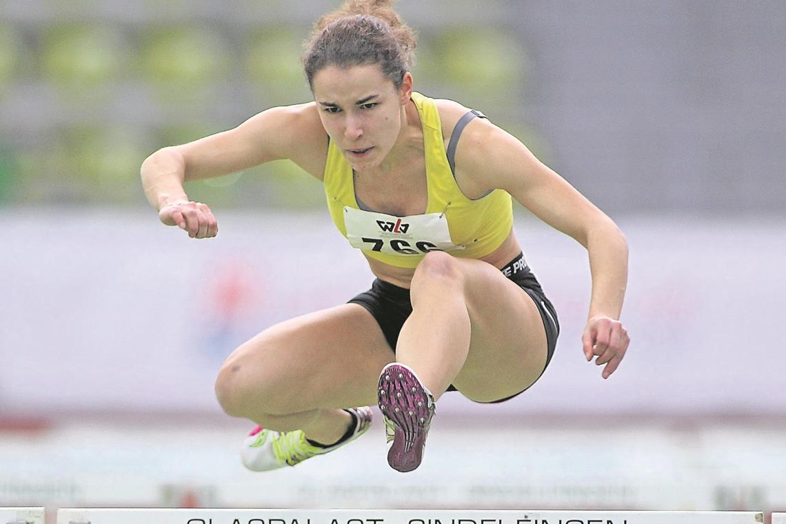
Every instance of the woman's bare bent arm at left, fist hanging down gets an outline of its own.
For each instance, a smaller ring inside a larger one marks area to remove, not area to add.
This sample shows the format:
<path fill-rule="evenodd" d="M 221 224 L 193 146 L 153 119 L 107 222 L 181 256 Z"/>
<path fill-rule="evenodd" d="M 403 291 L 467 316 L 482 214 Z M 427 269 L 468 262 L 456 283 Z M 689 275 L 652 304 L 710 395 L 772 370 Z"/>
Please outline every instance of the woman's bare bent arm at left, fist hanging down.
<path fill-rule="evenodd" d="M 218 233 L 215 217 L 206 204 L 189 201 L 184 182 L 278 159 L 292 159 L 316 176 L 318 162 L 309 155 L 325 137 L 313 103 L 271 108 L 234 129 L 154 152 L 141 165 L 142 187 L 161 222 L 193 238 L 210 238 Z"/>

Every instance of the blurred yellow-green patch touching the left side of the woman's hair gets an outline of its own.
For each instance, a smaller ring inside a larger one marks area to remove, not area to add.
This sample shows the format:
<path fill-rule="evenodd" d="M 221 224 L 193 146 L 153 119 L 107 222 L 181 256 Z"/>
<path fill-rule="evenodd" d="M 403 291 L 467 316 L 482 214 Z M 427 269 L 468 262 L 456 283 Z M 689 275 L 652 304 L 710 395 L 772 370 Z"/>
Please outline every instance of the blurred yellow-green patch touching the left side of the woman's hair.
<path fill-rule="evenodd" d="M 253 90 L 266 104 L 299 104 L 312 100 L 300 63 L 307 30 L 297 26 L 264 27 L 245 40 L 245 68 Z"/>

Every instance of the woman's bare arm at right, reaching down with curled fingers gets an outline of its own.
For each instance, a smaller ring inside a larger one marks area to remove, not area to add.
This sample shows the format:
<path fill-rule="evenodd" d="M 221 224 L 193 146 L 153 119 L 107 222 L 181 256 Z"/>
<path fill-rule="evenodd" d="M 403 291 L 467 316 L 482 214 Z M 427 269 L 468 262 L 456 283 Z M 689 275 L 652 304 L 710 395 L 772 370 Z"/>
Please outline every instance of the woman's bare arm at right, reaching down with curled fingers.
<path fill-rule="evenodd" d="M 463 178 L 472 178 L 487 189 L 505 189 L 543 222 L 586 247 L 592 299 L 582 343 L 587 361 L 597 355 L 595 363 L 605 365 L 603 378 L 608 379 L 630 343 L 619 322 L 628 274 L 625 236 L 611 218 L 535 158 L 516 137 L 488 120 L 473 119 L 461 141 L 456 169 L 470 175 Z"/>

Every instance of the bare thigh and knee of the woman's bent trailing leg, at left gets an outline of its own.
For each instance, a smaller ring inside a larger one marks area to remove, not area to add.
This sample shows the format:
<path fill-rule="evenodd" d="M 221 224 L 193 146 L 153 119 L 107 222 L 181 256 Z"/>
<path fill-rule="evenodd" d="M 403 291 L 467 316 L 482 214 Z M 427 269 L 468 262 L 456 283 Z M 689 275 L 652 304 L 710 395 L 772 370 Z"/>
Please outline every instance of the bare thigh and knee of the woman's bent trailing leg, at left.
<path fill-rule="evenodd" d="M 292 413 L 375 403 L 380 371 L 394 360 L 371 313 L 343 304 L 266 329 L 238 347 L 222 372 L 244 401 Z"/>

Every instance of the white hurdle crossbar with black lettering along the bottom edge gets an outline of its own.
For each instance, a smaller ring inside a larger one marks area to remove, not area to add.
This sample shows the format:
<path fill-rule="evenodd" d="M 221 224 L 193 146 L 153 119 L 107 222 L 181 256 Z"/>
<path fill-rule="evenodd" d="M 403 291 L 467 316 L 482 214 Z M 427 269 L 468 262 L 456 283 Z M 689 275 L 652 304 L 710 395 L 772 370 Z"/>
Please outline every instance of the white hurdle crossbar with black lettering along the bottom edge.
<path fill-rule="evenodd" d="M 761 524 L 760 511 L 61 509 L 57 524 Z M 773 524 L 775 522 L 773 521 Z"/>

